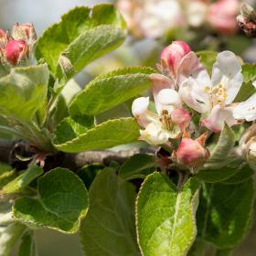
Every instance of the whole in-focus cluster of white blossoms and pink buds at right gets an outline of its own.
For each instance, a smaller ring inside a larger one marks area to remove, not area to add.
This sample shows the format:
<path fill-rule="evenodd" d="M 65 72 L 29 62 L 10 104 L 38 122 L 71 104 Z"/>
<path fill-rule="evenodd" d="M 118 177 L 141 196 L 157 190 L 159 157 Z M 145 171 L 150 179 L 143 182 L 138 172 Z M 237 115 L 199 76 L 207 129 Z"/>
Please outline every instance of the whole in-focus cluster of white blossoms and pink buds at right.
<path fill-rule="evenodd" d="M 243 83 L 240 59 L 234 53 L 220 52 L 209 76 L 187 43 L 175 41 L 162 51 L 157 68 L 162 74 L 151 75 L 155 107 L 149 97 L 140 97 L 133 101 L 132 112 L 144 128 L 141 140 L 178 144 L 172 155 L 176 163 L 197 168 L 209 156 L 204 148 L 208 133 L 196 140 L 187 133 L 193 133 L 192 113 L 211 133 L 219 133 L 225 123 L 231 127 L 256 119 L 256 93 L 247 101 L 234 102 Z"/>

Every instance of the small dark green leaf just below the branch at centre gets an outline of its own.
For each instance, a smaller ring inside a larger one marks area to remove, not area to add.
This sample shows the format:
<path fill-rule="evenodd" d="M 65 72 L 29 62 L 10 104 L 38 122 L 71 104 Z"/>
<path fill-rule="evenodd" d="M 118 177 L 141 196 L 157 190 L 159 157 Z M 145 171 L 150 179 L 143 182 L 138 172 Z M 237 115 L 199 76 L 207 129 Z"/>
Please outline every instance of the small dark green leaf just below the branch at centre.
<path fill-rule="evenodd" d="M 153 173 L 159 164 L 155 155 L 137 154 L 127 159 L 119 169 L 119 175 L 126 180 L 145 178 Z"/>

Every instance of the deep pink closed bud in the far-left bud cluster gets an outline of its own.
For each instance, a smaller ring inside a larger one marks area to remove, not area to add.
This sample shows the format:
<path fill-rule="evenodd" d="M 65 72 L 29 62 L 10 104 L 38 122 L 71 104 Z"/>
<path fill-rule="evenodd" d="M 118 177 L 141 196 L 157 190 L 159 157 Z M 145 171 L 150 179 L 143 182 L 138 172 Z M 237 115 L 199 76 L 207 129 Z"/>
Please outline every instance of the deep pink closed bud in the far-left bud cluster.
<path fill-rule="evenodd" d="M 12 65 L 16 65 L 20 59 L 28 56 L 27 43 L 24 40 L 11 40 L 5 46 L 5 58 Z"/>

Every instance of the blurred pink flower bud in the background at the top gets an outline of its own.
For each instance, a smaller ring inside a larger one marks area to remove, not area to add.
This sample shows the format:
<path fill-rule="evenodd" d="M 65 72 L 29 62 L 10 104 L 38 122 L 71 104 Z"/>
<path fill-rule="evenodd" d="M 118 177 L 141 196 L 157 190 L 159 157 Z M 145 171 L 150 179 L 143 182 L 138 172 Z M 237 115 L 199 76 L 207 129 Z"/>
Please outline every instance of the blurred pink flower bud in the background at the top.
<path fill-rule="evenodd" d="M 219 0 L 210 5 L 208 21 L 220 33 L 233 34 L 238 29 L 236 16 L 239 9 L 240 2 L 238 0 Z"/>

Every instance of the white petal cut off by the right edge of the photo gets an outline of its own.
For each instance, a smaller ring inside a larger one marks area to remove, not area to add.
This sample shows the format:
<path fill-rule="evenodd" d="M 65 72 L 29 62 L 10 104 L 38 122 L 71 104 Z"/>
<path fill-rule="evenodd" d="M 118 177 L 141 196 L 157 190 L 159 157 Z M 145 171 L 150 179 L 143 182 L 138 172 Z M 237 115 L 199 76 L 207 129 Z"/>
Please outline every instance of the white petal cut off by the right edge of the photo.
<path fill-rule="evenodd" d="M 233 114 L 238 120 L 245 119 L 248 122 L 256 120 L 256 93 L 247 101 L 240 102 L 235 107 Z"/>

